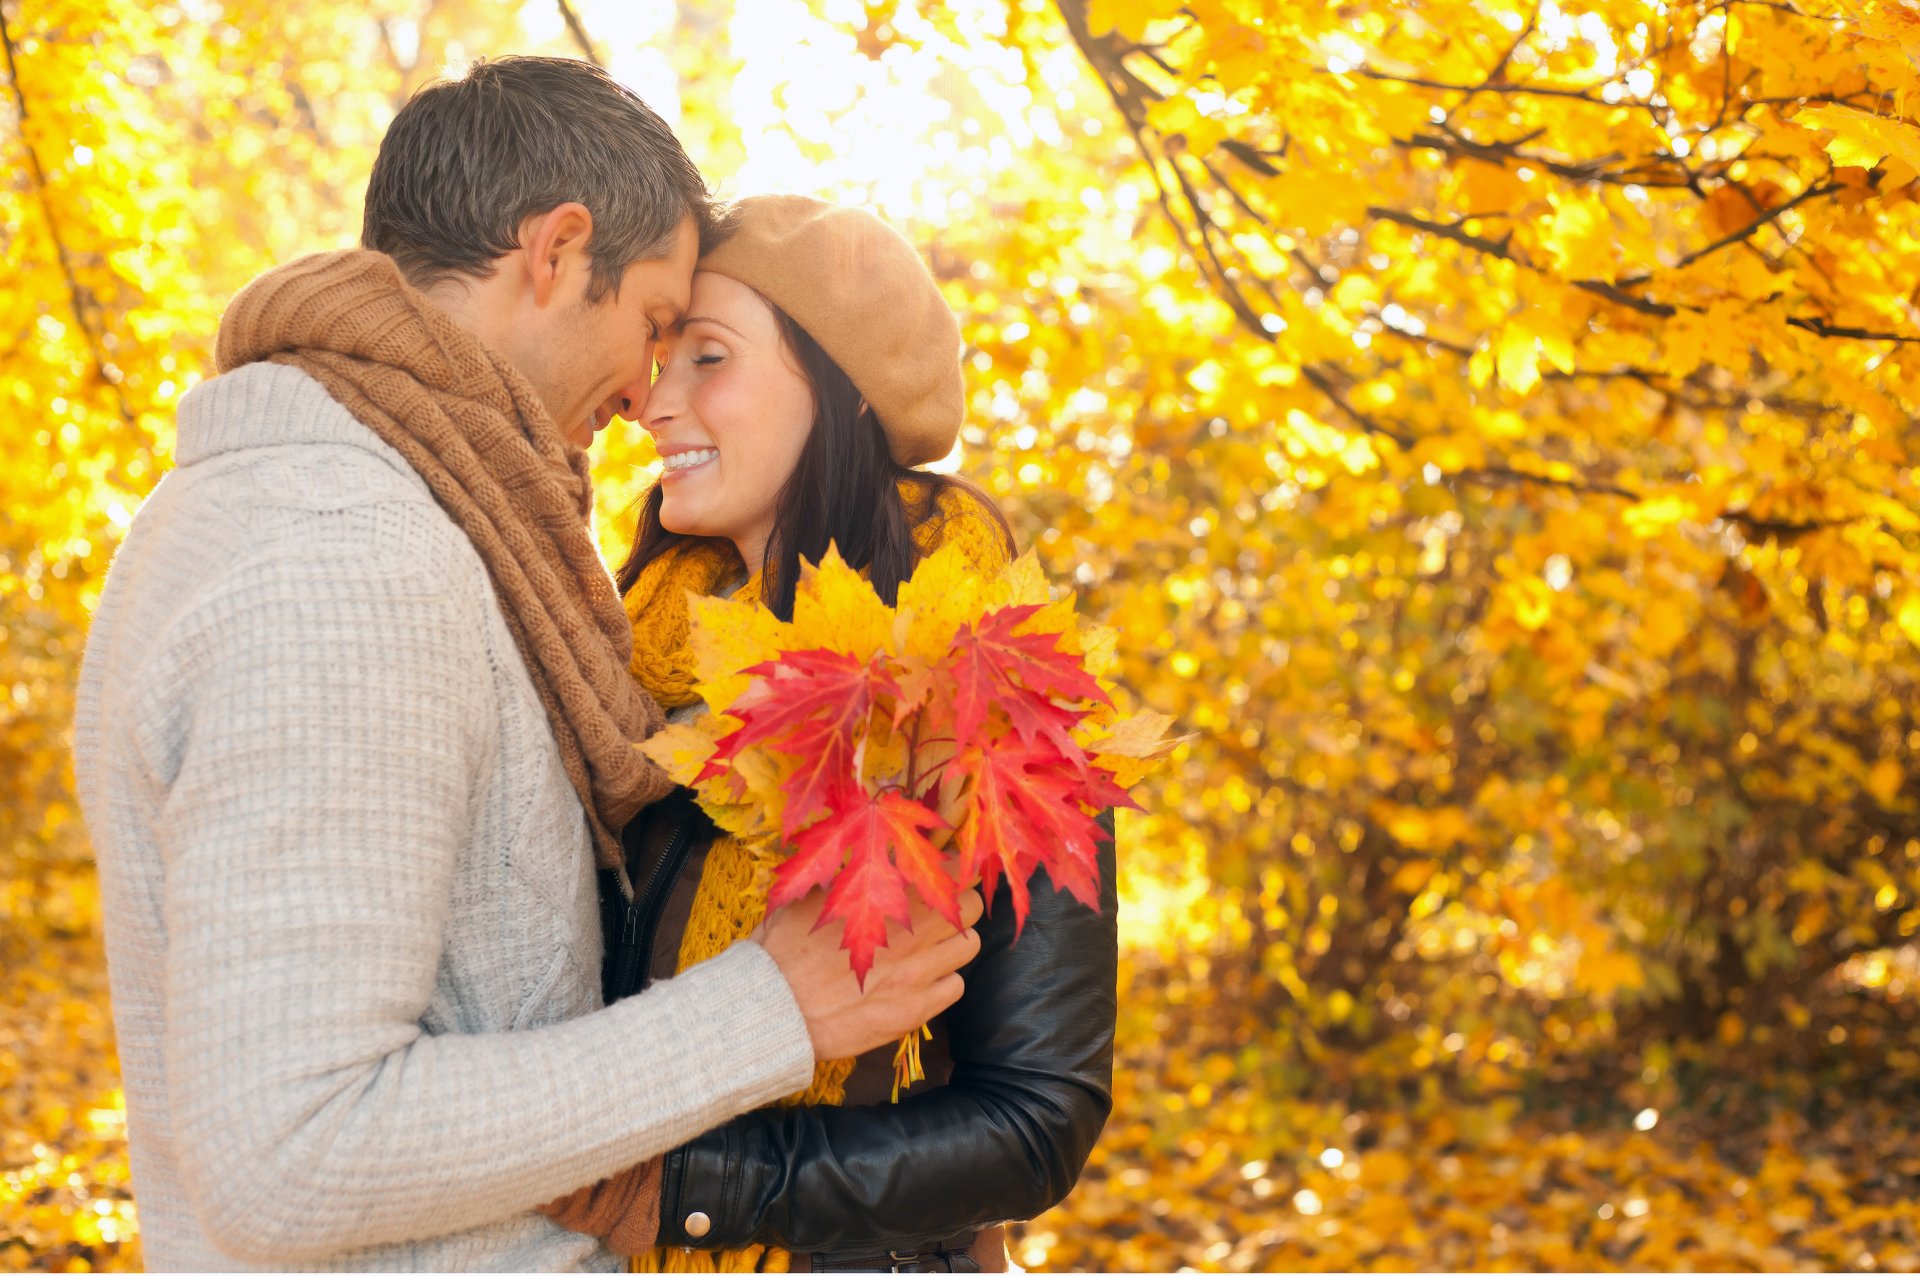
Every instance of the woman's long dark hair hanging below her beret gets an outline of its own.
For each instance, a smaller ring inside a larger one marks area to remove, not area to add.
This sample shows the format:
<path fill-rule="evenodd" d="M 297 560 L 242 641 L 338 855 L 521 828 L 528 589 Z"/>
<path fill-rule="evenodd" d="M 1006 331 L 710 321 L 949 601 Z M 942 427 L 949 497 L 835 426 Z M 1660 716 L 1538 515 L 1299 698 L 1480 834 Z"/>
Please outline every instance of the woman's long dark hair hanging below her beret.
<path fill-rule="evenodd" d="M 947 474 L 897 464 L 887 451 L 887 434 L 879 418 L 860 405 L 860 391 L 852 380 L 785 311 L 774 307 L 774 317 L 814 391 L 814 428 L 787 485 L 780 491 L 774 533 L 766 541 L 762 599 L 776 616 L 793 620 L 801 560 L 820 562 L 829 543 L 839 547 L 841 558 L 851 568 L 864 570 L 874 581 L 874 591 L 893 606 L 900 583 L 920 562 L 914 528 L 939 516 L 937 501 L 948 489 L 958 487 L 979 501 L 1000 524 L 1012 553 L 1014 533 L 987 493 Z M 916 480 L 920 491 L 912 505 L 900 495 L 900 480 L 906 478 Z M 660 487 L 655 484 L 641 501 L 634 549 L 628 551 L 616 576 L 620 593 L 634 587 L 641 568 L 691 539 L 697 537 L 660 526 Z"/>

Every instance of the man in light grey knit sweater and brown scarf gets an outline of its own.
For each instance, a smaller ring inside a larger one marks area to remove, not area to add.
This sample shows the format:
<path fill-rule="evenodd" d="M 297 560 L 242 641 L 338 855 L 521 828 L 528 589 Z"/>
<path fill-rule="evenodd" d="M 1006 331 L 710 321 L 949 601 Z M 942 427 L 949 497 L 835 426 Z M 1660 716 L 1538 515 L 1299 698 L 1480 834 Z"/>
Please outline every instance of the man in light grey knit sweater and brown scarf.
<path fill-rule="evenodd" d="M 396 117 L 378 251 L 228 309 L 75 739 L 154 1266 L 611 1268 L 534 1207 L 958 996 L 972 931 L 862 994 L 812 900 L 599 1005 L 595 862 L 668 783 L 580 447 L 707 221 L 637 98 L 511 58 Z"/>

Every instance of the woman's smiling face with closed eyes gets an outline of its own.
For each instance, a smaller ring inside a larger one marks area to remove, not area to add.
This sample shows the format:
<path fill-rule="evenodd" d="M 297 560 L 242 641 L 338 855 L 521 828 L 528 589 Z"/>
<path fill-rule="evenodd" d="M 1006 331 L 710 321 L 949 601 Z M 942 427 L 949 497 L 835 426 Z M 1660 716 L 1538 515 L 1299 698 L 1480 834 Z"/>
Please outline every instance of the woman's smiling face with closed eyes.
<path fill-rule="evenodd" d="M 660 453 L 660 526 L 733 541 L 758 570 L 780 491 L 814 424 L 814 395 L 774 307 L 699 271 L 687 319 L 657 349 L 647 432 Z"/>

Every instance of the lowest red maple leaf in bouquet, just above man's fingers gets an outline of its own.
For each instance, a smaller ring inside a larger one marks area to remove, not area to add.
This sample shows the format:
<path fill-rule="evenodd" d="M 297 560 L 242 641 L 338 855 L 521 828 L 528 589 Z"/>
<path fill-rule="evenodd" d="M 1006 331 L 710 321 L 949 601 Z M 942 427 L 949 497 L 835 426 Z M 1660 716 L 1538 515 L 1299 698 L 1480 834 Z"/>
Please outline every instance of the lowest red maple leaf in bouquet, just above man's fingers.
<path fill-rule="evenodd" d="M 841 787 L 826 819 L 806 827 L 793 842 L 793 856 L 774 869 L 766 906 L 776 910 L 826 885 L 820 925 L 847 923 L 841 948 L 864 984 L 874 954 L 887 944 L 887 923 L 908 925 L 906 886 L 960 929 L 960 885 L 925 835 L 941 827 L 939 815 L 897 789 L 870 794 Z"/>

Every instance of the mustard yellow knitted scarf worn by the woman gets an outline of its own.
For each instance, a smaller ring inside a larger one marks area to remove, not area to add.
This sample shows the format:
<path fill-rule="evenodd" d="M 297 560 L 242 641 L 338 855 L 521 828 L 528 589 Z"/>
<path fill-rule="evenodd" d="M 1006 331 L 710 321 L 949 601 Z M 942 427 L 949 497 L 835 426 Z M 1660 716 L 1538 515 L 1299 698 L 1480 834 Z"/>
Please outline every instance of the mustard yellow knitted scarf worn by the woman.
<path fill-rule="evenodd" d="M 914 480 L 900 484 L 908 508 L 924 505 L 924 487 Z M 1008 562 L 1006 535 L 1000 522 L 964 489 L 939 493 L 935 507 L 914 528 L 914 545 L 931 555 L 945 545 L 960 545 L 979 572 L 998 572 Z M 634 679 L 666 710 L 699 702 L 699 679 L 689 650 L 689 595 L 714 595 L 743 574 L 739 555 L 728 541 L 689 541 L 649 562 L 626 593 L 626 614 L 634 622 Z M 760 599 L 760 576 L 755 574 L 733 595 L 737 601 Z M 766 894 L 772 886 L 774 860 L 735 839 L 722 837 L 707 852 L 699 888 L 693 894 L 693 913 L 680 944 L 680 965 L 685 971 L 708 957 L 720 956 L 730 944 L 745 938 L 766 917 Z M 814 1067 L 812 1084 L 801 1094 L 781 1099 L 783 1105 L 839 1105 L 847 1098 L 847 1078 L 852 1059 L 822 1061 Z M 747 1249 L 653 1249 L 634 1259 L 636 1272 L 785 1272 L 791 1255 L 770 1245 Z"/>

